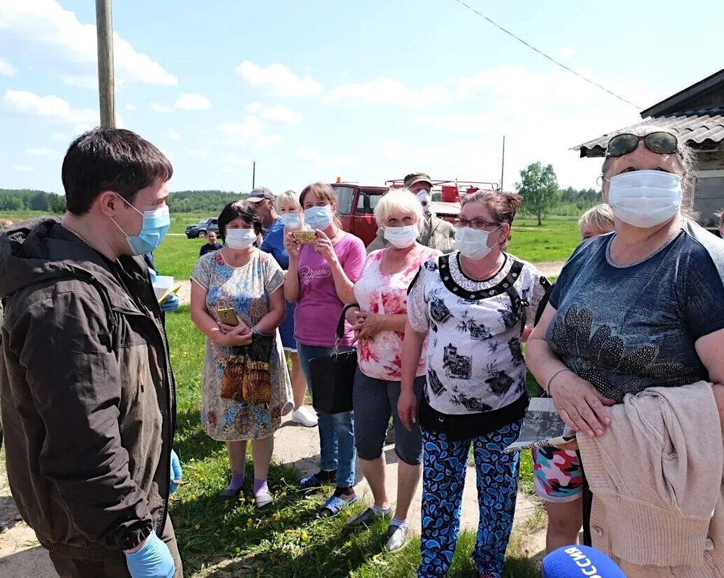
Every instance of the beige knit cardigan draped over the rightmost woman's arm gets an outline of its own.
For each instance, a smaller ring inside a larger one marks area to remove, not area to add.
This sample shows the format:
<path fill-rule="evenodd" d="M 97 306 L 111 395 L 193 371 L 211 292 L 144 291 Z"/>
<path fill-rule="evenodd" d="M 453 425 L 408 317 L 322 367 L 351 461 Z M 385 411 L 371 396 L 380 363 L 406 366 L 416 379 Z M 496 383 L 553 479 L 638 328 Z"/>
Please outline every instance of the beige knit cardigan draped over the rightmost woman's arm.
<path fill-rule="evenodd" d="M 724 577 L 724 443 L 711 384 L 650 388 L 578 435 L 594 548 L 628 578 Z"/>

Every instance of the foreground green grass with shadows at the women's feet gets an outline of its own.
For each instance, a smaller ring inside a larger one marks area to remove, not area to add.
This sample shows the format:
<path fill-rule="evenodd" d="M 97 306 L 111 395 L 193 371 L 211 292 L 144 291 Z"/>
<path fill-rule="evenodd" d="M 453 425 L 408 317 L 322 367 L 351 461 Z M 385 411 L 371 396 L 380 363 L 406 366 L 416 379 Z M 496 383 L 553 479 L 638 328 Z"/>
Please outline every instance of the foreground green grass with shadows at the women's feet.
<path fill-rule="evenodd" d="M 177 380 L 176 449 L 189 484 L 172 503 L 185 575 L 189 577 L 412 577 L 420 562 L 418 540 L 397 553 L 383 550 L 386 525 L 345 527 L 346 516 L 317 520 L 314 514 L 331 488 L 306 494 L 295 488 L 298 473 L 272 464 L 269 485 L 276 496 L 274 509 L 259 515 L 251 498 L 221 506 L 215 495 L 226 485 L 229 462 L 222 443 L 203 432 L 198 409 L 201 403 L 201 370 L 205 338 L 190 320 L 188 307 L 167 314 L 171 361 Z M 521 466 L 521 471 L 524 468 Z M 252 479 L 251 461 L 247 479 Z M 523 474 L 526 484 L 529 473 Z M 360 509 L 363 506 L 355 506 Z M 528 559 L 523 524 L 513 532 L 508 548 L 506 578 L 539 576 Z M 450 576 L 476 576 L 471 560 L 474 532 L 460 536 Z M 222 563 L 222 568 L 209 566 Z M 208 569 L 208 570 L 207 570 Z"/>

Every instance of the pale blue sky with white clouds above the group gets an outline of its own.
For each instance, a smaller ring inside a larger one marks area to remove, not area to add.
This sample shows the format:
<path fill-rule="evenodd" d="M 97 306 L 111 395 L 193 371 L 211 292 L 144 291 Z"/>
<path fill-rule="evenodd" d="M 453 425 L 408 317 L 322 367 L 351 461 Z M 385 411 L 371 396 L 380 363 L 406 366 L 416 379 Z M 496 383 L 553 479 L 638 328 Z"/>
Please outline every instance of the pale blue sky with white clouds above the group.
<path fill-rule="evenodd" d="M 596 186 L 568 150 L 721 67 L 720 1 L 468 4 L 455 0 L 116 0 L 119 125 L 174 164 L 172 190 L 382 184 L 407 172 L 497 181 L 552 163 Z M 709 28 L 709 30 L 711 30 Z M 696 44 L 681 38 L 696 38 Z M 98 124 L 94 3 L 0 0 L 0 188 L 62 192 L 72 138 Z"/>

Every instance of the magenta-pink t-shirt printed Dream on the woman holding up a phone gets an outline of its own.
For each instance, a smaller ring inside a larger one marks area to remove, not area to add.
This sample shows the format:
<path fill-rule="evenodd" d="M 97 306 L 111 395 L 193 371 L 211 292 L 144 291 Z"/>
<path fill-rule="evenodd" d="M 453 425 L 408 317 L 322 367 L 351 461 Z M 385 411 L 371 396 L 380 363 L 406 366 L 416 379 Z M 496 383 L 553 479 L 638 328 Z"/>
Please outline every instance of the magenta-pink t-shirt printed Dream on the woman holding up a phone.
<path fill-rule="evenodd" d="M 334 253 L 350 280 L 356 282 L 362 273 L 366 254 L 361 238 L 345 233 L 334 243 Z M 303 245 L 299 251 L 297 271 L 299 298 L 294 312 L 294 337 L 305 345 L 332 347 L 344 306 L 334 288 L 332 268 L 311 245 Z M 347 325 L 340 345 L 352 345 L 353 339 L 354 334 Z"/>

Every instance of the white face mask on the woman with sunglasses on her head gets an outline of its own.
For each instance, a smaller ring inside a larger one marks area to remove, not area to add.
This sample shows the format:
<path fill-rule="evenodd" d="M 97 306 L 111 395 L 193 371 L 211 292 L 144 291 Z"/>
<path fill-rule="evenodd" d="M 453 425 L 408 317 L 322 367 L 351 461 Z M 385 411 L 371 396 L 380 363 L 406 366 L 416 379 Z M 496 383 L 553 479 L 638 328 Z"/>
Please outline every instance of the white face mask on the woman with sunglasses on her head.
<path fill-rule="evenodd" d="M 634 227 L 655 227 L 668 221 L 681 206 L 681 176 L 642 170 L 611 177 L 608 204 L 614 217 Z"/>

